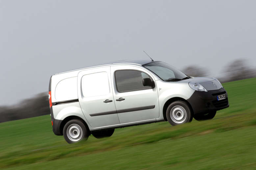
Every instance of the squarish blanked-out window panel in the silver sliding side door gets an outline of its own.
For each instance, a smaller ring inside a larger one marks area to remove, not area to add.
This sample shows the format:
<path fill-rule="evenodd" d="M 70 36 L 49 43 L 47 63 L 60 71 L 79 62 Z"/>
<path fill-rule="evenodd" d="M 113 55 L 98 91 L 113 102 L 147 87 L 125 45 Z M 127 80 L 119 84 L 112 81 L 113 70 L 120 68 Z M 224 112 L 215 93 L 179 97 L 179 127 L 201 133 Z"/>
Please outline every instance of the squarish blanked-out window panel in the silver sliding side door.
<path fill-rule="evenodd" d="M 87 74 L 82 77 L 82 93 L 84 97 L 101 96 L 110 93 L 107 72 Z"/>

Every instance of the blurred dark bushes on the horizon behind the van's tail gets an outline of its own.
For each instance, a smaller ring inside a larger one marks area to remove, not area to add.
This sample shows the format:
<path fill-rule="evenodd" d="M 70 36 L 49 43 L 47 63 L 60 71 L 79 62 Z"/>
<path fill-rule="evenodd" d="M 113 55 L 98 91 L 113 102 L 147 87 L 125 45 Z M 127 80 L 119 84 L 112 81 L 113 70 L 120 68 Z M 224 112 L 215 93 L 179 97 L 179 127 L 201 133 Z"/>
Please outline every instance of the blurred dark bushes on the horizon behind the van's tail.
<path fill-rule="evenodd" d="M 48 94 L 40 93 L 17 105 L 0 107 L 0 123 L 50 114 Z"/>

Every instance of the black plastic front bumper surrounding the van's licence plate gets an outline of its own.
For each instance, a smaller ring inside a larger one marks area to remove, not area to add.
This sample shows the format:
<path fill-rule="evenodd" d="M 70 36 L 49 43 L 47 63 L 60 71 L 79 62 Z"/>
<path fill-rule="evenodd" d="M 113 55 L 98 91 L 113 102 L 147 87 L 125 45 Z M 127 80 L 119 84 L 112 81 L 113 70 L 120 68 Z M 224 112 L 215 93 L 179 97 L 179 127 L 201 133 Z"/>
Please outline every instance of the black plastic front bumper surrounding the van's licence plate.
<path fill-rule="evenodd" d="M 221 94 L 225 94 L 226 99 L 218 101 L 217 96 Z M 190 103 L 194 114 L 207 113 L 208 111 L 217 111 L 229 107 L 228 94 L 224 88 L 208 92 L 195 91 L 187 101 Z"/>

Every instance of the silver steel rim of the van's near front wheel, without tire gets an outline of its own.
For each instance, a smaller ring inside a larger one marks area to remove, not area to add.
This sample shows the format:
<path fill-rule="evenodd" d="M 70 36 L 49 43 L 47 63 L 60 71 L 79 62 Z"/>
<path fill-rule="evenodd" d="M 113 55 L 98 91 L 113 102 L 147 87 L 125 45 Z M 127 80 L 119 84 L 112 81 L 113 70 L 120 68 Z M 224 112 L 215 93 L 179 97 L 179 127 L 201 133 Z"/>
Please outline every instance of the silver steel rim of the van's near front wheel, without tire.
<path fill-rule="evenodd" d="M 187 118 L 187 112 L 182 106 L 174 106 L 170 111 L 171 120 L 177 124 L 183 123 Z"/>

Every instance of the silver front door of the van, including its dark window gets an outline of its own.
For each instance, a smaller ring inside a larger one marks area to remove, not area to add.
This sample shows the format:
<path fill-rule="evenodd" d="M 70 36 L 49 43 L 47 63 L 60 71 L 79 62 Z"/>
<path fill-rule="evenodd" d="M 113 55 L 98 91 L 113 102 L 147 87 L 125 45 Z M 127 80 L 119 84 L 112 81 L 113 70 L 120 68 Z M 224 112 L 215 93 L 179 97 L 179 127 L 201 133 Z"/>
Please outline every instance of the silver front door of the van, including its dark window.
<path fill-rule="evenodd" d="M 154 120 L 159 117 L 157 87 L 144 86 L 153 76 L 136 66 L 111 66 L 115 107 L 120 123 Z"/>

